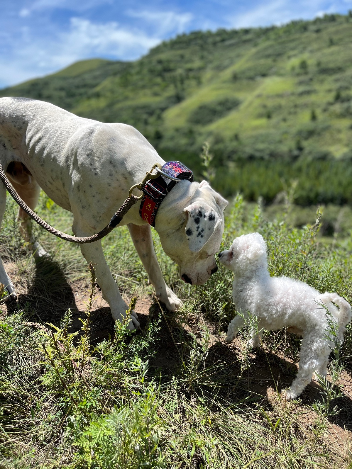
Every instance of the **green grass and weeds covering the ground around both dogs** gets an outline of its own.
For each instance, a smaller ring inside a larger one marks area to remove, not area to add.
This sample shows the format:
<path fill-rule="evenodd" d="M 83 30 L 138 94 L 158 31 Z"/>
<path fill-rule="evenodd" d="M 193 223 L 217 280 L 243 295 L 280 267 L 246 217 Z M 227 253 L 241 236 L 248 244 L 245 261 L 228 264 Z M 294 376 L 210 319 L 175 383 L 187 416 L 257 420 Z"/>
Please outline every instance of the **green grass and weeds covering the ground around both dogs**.
<path fill-rule="evenodd" d="M 315 225 L 292 227 L 289 199 L 281 214 L 267 221 L 260 204 L 248 208 L 237 196 L 227 213 L 223 246 L 239 234 L 259 231 L 268 242 L 271 274 L 304 280 L 321 292 L 336 291 L 351 302 L 350 239 L 337 237 L 333 247 L 322 244 L 317 238 L 319 212 Z M 45 201 L 41 199 L 39 212 L 50 222 L 67 225 L 69 219 L 59 209 L 44 212 Z M 6 236 L 11 210 L 10 203 Z M 89 273 L 73 255 L 76 248 L 46 233 L 40 232 L 40 238 L 53 253 L 61 278 L 71 282 L 77 265 L 93 296 L 94 271 Z M 327 400 L 328 377 L 318 391 L 309 388 L 300 399 L 287 402 L 274 369 L 281 381 L 291 383 L 299 339 L 287 331 L 267 332 L 253 353 L 244 329 L 239 342 L 226 344 L 224 331 L 235 314 L 231 272 L 219 266 L 206 285 L 189 289 L 178 280 L 156 236 L 154 242 L 166 280 L 185 306 L 168 313 L 154 303 L 141 333 L 131 333 L 128 321 L 116 323 L 111 335 L 96 343 L 91 303 L 81 328 L 73 327 L 71 310 L 42 324 L 31 299 L 26 308 L 20 302 L 17 310 L 2 315 L 1 467 L 300 469 L 351 464 L 348 443 L 329 433 L 333 422 L 341 428 L 349 425 L 351 401 L 336 373 L 350 373 L 351 328 L 333 357 L 335 394 Z M 25 246 L 24 252 L 17 251 L 14 241 L 8 249 L 8 259 L 33 262 Z M 112 270 L 127 279 L 122 287 L 129 297 L 136 291 L 152 294 L 126 229 L 116 229 L 104 249 Z M 33 264 L 27 269 L 29 286 L 40 268 Z M 274 374 L 268 390 L 259 391 L 263 370 Z"/>

